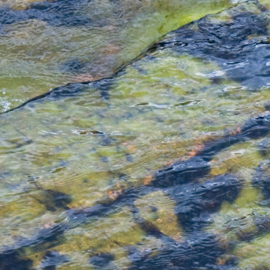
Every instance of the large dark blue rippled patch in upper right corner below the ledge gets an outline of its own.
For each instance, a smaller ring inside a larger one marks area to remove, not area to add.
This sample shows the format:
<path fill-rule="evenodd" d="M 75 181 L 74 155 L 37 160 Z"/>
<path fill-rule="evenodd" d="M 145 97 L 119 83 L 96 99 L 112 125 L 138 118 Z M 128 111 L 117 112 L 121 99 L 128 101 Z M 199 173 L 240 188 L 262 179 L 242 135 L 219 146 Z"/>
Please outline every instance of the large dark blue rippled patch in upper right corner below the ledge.
<path fill-rule="evenodd" d="M 269 11 L 256 1 L 253 3 L 253 6 L 232 8 L 220 16 L 209 15 L 180 27 L 149 50 L 168 48 L 215 61 L 220 70 L 201 74 L 215 83 L 227 78 L 250 90 L 267 86 L 270 76 Z"/>

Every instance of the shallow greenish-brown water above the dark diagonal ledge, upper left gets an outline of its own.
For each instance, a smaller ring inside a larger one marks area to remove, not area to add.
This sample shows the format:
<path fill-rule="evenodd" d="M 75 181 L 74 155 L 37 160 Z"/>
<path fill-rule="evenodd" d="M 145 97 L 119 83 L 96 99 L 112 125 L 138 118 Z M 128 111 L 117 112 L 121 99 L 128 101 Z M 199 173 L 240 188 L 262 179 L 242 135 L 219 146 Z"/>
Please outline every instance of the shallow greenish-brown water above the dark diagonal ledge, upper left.
<path fill-rule="evenodd" d="M 42 16 L 34 3 L 1 1 L 2 111 L 71 81 L 107 77 L 166 32 L 228 6 L 226 1 L 196 1 L 194 7 L 182 1 L 81 0 L 60 4 L 61 11 L 49 4 Z M 63 10 L 70 20 L 57 18 Z"/>

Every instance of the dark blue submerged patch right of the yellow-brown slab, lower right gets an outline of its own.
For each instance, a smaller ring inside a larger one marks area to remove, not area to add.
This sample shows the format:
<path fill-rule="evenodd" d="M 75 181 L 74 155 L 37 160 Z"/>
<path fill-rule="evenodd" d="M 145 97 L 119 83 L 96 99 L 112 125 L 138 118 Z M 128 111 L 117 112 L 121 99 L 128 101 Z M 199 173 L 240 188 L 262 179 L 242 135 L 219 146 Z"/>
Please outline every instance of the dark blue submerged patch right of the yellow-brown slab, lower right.
<path fill-rule="evenodd" d="M 211 215 L 224 201 L 233 202 L 241 189 L 235 175 L 224 174 L 202 184 L 188 184 L 172 189 L 175 214 L 186 231 L 200 230 L 212 222 Z"/>

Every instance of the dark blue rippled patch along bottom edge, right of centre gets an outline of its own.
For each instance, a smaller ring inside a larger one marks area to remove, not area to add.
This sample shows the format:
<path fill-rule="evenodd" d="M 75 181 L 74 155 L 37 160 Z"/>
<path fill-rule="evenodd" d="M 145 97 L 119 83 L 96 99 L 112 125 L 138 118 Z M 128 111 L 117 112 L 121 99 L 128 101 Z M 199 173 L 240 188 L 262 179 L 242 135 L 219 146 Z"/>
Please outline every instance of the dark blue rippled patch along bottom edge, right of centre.
<path fill-rule="evenodd" d="M 183 243 L 168 240 L 156 254 L 130 254 L 130 270 L 218 270 L 223 266 L 217 265 L 217 259 L 224 251 L 224 246 L 215 235 L 196 233 Z M 229 267 L 228 262 L 226 269 L 230 269 Z"/>

